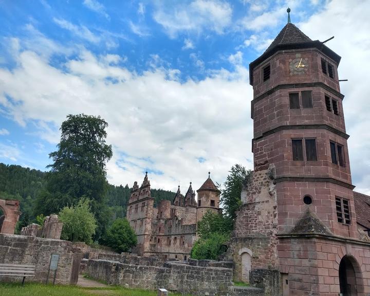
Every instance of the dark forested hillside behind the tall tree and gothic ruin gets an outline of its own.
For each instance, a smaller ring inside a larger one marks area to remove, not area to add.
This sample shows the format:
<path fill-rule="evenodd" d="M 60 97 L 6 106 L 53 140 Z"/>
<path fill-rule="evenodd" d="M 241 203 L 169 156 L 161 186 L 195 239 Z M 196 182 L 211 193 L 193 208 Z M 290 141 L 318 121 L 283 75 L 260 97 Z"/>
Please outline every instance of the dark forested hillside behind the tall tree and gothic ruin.
<path fill-rule="evenodd" d="M 46 175 L 46 172 L 23 168 L 20 165 L 0 163 L 0 198 L 20 200 L 23 215 L 27 213 L 32 221 L 37 214 L 37 209 L 34 209 L 34 200 L 39 192 L 45 189 Z M 152 189 L 151 192 L 156 203 L 162 199 L 172 200 L 175 196 L 174 192 L 162 189 Z M 126 186 L 108 186 L 106 201 L 111 213 L 110 220 L 126 215 L 130 193 L 131 188 L 127 184 Z"/>

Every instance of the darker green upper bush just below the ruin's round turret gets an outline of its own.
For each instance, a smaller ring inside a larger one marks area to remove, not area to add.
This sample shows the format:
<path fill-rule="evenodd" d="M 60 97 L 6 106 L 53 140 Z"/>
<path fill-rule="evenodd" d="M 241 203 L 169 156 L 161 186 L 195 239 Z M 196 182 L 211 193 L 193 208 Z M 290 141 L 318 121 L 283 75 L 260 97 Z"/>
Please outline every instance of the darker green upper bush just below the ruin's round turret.
<path fill-rule="evenodd" d="M 209 238 L 213 233 L 230 235 L 233 225 L 230 219 L 208 210 L 198 222 L 197 232 L 203 238 Z"/>

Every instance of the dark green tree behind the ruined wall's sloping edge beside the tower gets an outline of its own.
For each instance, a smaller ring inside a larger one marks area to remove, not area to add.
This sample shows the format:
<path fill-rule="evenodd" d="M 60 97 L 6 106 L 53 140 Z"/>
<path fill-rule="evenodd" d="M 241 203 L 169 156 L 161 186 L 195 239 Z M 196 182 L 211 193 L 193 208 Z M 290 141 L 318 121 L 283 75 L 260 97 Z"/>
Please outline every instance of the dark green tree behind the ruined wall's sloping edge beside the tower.
<path fill-rule="evenodd" d="M 242 205 L 242 189 L 244 184 L 249 180 L 251 173 L 251 170 L 246 170 L 240 164 L 233 165 L 224 183 L 224 189 L 221 190 L 220 203 L 225 216 L 232 221 L 236 217 L 235 211 Z"/>

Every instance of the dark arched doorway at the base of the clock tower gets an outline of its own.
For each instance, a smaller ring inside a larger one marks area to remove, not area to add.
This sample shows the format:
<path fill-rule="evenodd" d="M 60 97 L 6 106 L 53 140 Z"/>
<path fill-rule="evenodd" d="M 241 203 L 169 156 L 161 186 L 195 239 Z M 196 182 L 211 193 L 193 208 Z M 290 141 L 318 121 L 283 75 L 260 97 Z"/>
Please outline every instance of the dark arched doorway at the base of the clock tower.
<path fill-rule="evenodd" d="M 343 296 L 357 296 L 362 291 L 361 270 L 352 256 L 345 255 L 339 264 L 339 286 Z"/>

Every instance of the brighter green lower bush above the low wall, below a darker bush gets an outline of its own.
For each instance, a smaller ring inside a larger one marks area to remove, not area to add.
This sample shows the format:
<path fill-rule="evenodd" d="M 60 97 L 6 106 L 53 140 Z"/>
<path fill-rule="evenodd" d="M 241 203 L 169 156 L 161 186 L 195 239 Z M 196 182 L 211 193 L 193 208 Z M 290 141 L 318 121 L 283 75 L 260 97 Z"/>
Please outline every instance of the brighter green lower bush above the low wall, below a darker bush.
<path fill-rule="evenodd" d="M 229 237 L 225 233 L 212 232 L 206 239 L 199 238 L 194 243 L 190 256 L 197 260 L 218 260 L 218 257 L 225 252 L 223 245 Z"/>

